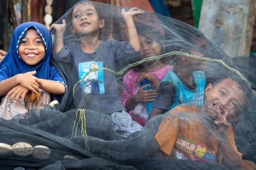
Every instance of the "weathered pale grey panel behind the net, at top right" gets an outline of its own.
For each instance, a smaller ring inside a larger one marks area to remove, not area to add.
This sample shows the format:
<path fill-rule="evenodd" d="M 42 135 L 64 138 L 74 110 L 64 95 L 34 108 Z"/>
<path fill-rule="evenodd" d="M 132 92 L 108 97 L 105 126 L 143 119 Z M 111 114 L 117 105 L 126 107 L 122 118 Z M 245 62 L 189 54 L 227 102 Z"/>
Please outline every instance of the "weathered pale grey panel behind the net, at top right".
<path fill-rule="evenodd" d="M 249 57 L 255 0 L 204 0 L 199 30 L 230 57 Z"/>

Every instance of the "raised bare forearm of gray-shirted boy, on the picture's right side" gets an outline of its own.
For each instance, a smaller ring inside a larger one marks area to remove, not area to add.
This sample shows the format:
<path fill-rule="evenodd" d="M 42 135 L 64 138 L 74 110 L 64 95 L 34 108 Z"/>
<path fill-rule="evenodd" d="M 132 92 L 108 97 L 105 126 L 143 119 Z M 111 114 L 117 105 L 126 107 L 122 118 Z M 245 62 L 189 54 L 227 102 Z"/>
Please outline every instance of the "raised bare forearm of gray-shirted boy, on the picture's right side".
<path fill-rule="evenodd" d="M 133 16 L 137 14 L 143 14 L 143 13 L 144 12 L 142 10 L 139 10 L 138 8 L 131 8 L 128 11 L 125 11 L 125 9 L 122 9 L 122 12 L 121 12 L 128 29 L 130 44 L 134 48 L 134 50 L 137 52 L 141 50 L 141 45 L 140 45 L 140 40 L 137 34 L 136 27 L 134 25 Z"/>

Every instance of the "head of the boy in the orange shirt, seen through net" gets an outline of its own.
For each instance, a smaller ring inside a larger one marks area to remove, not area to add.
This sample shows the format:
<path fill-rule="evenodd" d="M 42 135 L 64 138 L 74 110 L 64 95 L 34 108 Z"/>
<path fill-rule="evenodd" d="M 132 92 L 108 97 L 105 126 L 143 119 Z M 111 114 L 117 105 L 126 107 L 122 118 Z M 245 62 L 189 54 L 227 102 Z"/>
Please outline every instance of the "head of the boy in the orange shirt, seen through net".
<path fill-rule="evenodd" d="M 245 95 L 237 82 L 227 78 L 214 86 L 208 84 L 205 88 L 205 95 L 204 105 L 217 111 L 221 119 L 229 123 L 239 120 Z"/>

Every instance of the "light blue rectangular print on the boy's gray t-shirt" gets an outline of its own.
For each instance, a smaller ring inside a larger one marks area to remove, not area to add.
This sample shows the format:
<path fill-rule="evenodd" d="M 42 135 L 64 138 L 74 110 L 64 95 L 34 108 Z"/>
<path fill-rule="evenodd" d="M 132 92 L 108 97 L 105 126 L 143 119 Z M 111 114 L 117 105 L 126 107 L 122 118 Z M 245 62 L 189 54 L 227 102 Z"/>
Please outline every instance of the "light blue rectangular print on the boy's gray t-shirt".
<path fill-rule="evenodd" d="M 83 87 L 83 91 L 86 94 L 90 94 L 90 93 L 104 94 L 105 93 L 103 69 L 90 72 L 91 70 L 102 68 L 102 67 L 103 67 L 102 61 L 90 61 L 90 62 L 79 63 L 78 65 L 79 79 L 82 80 L 84 77 L 86 77 L 84 81 L 80 82 L 80 86 Z"/>

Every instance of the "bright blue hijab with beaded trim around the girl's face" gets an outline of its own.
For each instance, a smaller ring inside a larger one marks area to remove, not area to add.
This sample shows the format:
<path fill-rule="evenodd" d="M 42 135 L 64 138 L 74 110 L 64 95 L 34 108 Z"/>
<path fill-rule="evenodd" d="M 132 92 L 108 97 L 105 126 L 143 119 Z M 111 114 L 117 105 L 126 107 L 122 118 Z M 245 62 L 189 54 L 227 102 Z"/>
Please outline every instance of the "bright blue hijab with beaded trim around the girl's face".
<path fill-rule="evenodd" d="M 18 54 L 21 39 L 26 35 L 27 29 L 33 28 L 42 37 L 45 45 L 45 56 L 34 66 L 27 65 Z M 36 77 L 42 79 L 52 79 L 50 66 L 52 52 L 52 36 L 50 31 L 40 23 L 27 22 L 17 26 L 13 31 L 13 37 L 4 59 L 0 62 L 0 81 L 13 77 L 18 73 L 25 73 L 36 70 Z"/>

